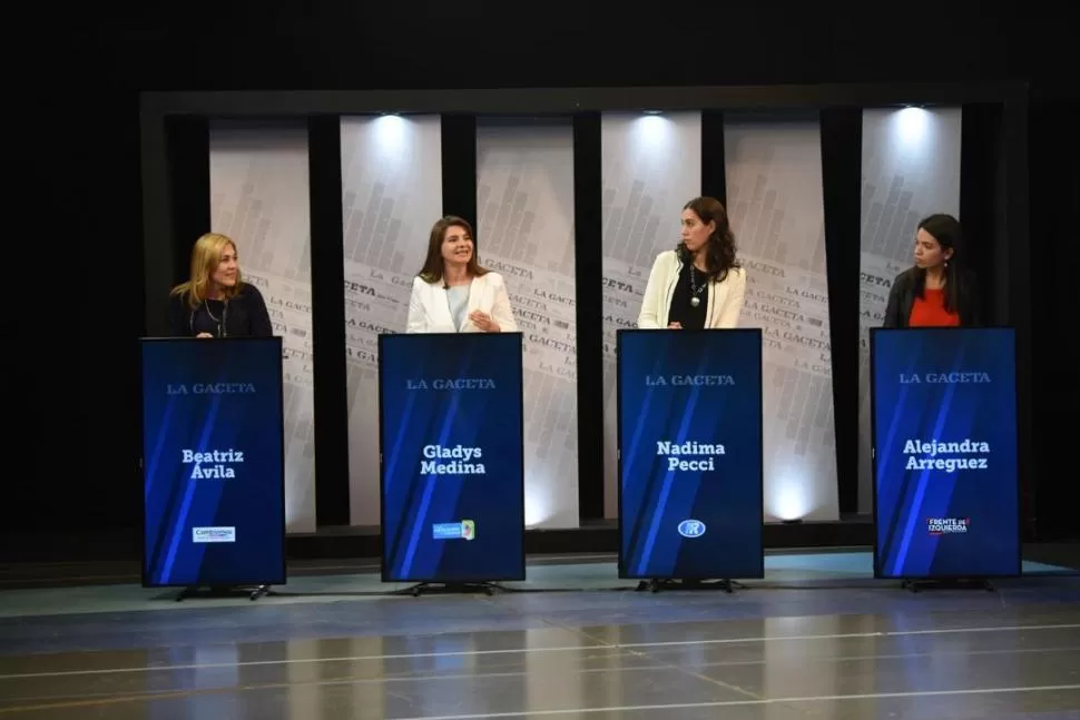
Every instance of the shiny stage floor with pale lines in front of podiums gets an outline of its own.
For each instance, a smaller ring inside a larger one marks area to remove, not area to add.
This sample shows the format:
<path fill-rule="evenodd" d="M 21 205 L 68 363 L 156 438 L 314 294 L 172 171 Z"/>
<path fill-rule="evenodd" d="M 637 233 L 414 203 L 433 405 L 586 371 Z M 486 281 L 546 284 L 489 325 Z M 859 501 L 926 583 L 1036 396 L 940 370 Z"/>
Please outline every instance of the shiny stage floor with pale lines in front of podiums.
<path fill-rule="evenodd" d="M 1080 718 L 1074 570 L 911 593 L 873 580 L 863 551 L 766 569 L 732 594 L 650 593 L 609 556 L 544 558 L 490 596 L 412 598 L 373 569 L 308 563 L 257 602 L 175 602 L 98 566 L 81 582 L 7 568 L 0 714 Z"/>

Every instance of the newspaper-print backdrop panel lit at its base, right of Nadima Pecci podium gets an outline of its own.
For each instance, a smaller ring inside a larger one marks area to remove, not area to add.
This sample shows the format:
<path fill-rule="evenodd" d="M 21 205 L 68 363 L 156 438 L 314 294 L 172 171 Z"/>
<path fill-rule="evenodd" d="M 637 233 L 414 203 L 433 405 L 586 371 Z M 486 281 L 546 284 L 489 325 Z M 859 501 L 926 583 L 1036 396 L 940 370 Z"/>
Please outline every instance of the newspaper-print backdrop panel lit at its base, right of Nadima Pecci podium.
<path fill-rule="evenodd" d="M 819 122 L 726 114 L 724 151 L 739 325 L 764 329 L 765 515 L 837 520 Z"/>

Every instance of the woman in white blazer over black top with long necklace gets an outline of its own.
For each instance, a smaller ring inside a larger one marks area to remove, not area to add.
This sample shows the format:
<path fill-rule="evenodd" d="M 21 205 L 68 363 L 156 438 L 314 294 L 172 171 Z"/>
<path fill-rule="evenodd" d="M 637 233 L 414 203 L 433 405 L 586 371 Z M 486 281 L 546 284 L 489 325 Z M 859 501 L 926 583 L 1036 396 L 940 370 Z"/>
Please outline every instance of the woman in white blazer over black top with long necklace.
<path fill-rule="evenodd" d="M 737 327 L 746 297 L 746 270 L 735 257 L 727 211 L 716 198 L 683 207 L 683 241 L 657 255 L 645 286 L 638 327 Z"/>

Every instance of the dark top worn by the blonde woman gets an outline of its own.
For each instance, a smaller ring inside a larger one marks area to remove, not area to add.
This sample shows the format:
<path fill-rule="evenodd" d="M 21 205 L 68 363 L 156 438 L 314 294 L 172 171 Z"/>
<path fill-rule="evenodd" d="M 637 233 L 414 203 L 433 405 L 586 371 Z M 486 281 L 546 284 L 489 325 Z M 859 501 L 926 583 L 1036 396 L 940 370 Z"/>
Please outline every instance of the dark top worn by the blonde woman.
<path fill-rule="evenodd" d="M 245 283 L 236 297 L 205 300 L 194 309 L 186 295 L 170 295 L 169 335 L 195 337 L 199 333 L 214 337 L 269 337 L 274 327 L 263 294 L 254 285 Z"/>

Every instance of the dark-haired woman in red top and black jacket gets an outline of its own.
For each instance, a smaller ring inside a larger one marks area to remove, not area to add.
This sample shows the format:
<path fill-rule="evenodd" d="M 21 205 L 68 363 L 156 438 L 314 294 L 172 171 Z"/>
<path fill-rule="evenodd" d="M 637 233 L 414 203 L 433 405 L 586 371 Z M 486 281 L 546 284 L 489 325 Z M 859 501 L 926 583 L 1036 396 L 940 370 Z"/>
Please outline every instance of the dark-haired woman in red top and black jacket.
<path fill-rule="evenodd" d="M 973 278 L 956 266 L 960 221 L 931 215 L 915 233 L 915 266 L 896 276 L 884 327 L 970 327 L 979 324 Z"/>

